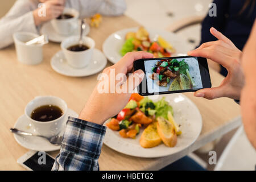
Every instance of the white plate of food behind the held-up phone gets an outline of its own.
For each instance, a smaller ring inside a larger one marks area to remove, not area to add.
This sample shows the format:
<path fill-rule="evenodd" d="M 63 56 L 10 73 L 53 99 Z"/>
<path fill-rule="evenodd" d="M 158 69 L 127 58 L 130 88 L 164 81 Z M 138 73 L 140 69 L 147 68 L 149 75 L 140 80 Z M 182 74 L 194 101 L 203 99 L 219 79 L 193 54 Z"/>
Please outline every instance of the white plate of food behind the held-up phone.
<path fill-rule="evenodd" d="M 117 63 L 121 59 L 121 54 L 119 53 L 122 49 L 123 43 L 125 43 L 125 35 L 127 32 L 136 32 L 138 27 L 127 28 L 114 32 L 110 35 L 103 43 L 102 50 L 105 56 L 113 64 Z M 176 53 L 172 56 L 178 54 L 187 54 L 191 50 L 191 46 L 188 45 L 187 41 L 182 37 L 168 31 L 164 30 L 152 30 L 151 28 L 146 28 L 150 34 L 150 39 L 153 40 L 157 35 L 162 36 L 168 43 L 170 43 L 176 49 Z"/>

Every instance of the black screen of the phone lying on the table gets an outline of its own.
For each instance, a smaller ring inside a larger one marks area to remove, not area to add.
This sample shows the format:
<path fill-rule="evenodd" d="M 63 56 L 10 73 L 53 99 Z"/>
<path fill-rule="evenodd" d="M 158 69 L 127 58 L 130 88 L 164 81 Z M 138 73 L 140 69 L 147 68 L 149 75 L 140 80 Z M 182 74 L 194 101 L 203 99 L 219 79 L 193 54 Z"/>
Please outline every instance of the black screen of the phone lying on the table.
<path fill-rule="evenodd" d="M 55 160 L 46 154 L 46 163 L 39 164 L 38 159 L 40 157 L 41 155 L 38 155 L 38 152 L 36 152 L 34 155 L 31 156 L 31 158 L 23 162 L 23 164 L 31 168 L 33 171 L 51 171 Z"/>

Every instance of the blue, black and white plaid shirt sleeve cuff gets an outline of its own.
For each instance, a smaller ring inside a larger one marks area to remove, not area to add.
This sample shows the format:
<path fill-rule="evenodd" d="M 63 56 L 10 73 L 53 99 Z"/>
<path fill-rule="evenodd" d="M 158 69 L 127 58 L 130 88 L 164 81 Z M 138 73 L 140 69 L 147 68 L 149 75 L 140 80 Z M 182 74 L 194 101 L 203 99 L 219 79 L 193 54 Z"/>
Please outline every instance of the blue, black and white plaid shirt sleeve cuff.
<path fill-rule="evenodd" d="M 106 127 L 69 117 L 52 170 L 98 170 Z"/>

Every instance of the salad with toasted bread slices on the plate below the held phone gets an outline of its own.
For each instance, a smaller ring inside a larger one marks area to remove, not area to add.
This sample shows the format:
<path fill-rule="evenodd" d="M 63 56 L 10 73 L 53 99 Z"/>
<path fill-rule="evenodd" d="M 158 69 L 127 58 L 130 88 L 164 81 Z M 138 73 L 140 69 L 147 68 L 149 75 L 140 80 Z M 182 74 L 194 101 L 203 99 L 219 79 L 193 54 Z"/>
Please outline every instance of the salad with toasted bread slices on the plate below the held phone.
<path fill-rule="evenodd" d="M 163 97 L 153 102 L 137 93 L 131 94 L 128 104 L 106 126 L 127 139 L 135 139 L 142 132 L 139 143 L 151 148 L 164 143 L 174 147 L 180 126 L 174 120 L 172 106 Z"/>

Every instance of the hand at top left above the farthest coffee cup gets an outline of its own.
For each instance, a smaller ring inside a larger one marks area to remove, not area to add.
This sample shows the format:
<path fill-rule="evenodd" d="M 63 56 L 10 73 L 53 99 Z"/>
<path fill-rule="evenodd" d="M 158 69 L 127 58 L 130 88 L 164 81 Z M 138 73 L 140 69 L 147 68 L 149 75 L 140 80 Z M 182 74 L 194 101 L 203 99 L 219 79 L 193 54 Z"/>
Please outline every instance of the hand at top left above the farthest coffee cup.
<path fill-rule="evenodd" d="M 48 0 L 44 5 L 33 11 L 36 26 L 61 15 L 64 10 L 65 0 Z M 43 8 L 46 8 L 46 16 L 39 15 Z"/>

